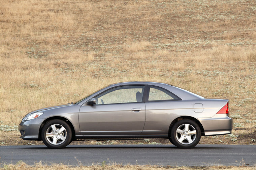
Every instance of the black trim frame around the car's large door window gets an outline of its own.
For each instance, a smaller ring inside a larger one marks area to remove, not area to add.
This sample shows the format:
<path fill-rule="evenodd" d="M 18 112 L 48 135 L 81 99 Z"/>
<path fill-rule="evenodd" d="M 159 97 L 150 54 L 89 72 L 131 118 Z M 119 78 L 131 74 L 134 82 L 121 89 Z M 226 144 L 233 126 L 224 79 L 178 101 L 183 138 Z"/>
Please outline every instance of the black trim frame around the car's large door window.
<path fill-rule="evenodd" d="M 105 91 L 103 91 L 103 92 L 101 92 L 101 93 L 99 93 L 99 94 L 97 94 L 97 95 L 95 95 L 95 96 L 93 96 L 92 98 L 96 98 L 96 97 L 98 97 L 99 95 L 101 95 L 101 94 L 103 94 L 103 93 L 105 93 L 105 92 L 107 92 L 107 91 L 115 91 L 114 89 L 115 88 L 119 88 L 119 87 L 129 87 L 129 86 L 142 86 L 143 87 L 143 89 L 142 89 L 142 92 L 143 92 L 143 94 L 142 94 L 142 101 L 141 102 L 126 102 L 126 103 L 108 103 L 108 104 L 127 104 L 127 103 L 144 103 L 145 102 L 145 97 L 146 97 L 146 93 L 147 93 L 147 89 L 146 89 L 146 85 L 144 85 L 144 84 L 132 84 L 132 85 L 120 85 L 120 86 L 115 86 L 115 87 L 112 87 L 112 88 L 109 88 L 109 89 L 107 89 L 107 90 L 105 90 Z M 110 93 L 109 92 L 109 93 Z M 89 100 L 91 100 L 92 98 L 90 98 Z M 88 100 L 88 101 L 89 101 Z M 87 101 L 86 101 L 87 102 Z M 95 105 L 107 105 L 107 104 L 95 104 Z"/>

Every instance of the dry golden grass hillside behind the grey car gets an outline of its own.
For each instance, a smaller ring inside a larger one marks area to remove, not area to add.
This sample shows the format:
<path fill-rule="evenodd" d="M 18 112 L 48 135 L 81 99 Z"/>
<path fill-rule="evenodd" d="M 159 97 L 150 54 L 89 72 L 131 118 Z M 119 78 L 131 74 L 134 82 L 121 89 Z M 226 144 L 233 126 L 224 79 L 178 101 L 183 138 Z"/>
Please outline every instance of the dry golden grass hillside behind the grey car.
<path fill-rule="evenodd" d="M 256 144 L 256 1 L 0 2 L 0 145 L 41 144 L 19 139 L 26 113 L 123 81 L 228 98 L 233 134 L 200 143 Z M 168 140 L 102 141 L 124 142 Z"/>

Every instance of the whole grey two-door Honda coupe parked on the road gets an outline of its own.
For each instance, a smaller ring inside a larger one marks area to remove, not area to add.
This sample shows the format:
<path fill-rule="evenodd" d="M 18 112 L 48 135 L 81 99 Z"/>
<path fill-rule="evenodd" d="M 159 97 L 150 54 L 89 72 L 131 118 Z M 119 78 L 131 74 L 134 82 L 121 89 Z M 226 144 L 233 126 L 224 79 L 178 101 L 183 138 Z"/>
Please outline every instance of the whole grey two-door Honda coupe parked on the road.
<path fill-rule="evenodd" d="M 230 134 L 228 100 L 206 99 L 165 83 L 111 84 L 66 105 L 28 113 L 19 124 L 24 140 L 63 148 L 73 140 L 169 139 L 192 148 L 201 135 Z"/>

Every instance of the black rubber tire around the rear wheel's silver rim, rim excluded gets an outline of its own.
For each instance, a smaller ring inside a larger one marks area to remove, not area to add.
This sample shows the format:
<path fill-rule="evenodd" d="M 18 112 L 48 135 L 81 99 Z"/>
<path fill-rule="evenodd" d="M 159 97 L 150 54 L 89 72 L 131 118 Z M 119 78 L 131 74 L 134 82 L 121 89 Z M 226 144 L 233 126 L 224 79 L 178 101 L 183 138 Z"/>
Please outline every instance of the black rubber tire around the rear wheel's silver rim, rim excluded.
<path fill-rule="evenodd" d="M 192 125 L 195 130 L 196 130 L 196 139 L 190 143 L 190 144 L 182 144 L 178 141 L 178 139 L 176 138 L 176 130 L 178 129 L 178 127 L 182 124 L 190 124 Z M 201 139 L 201 130 L 200 130 L 200 127 L 198 126 L 198 124 L 190 119 L 183 119 L 183 120 L 180 120 L 178 122 L 176 122 L 172 128 L 171 128 L 171 140 L 173 141 L 173 144 L 176 145 L 177 147 L 179 148 L 193 148 L 195 147 L 200 139 Z"/>

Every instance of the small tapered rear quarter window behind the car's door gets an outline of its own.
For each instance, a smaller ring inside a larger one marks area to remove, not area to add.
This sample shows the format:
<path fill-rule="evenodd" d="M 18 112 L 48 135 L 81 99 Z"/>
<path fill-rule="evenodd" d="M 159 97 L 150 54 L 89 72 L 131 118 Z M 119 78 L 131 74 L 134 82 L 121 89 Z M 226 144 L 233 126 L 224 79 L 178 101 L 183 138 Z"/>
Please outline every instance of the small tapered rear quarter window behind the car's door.
<path fill-rule="evenodd" d="M 179 99 L 167 90 L 158 87 L 150 87 L 149 90 L 149 101 L 156 100 L 176 100 Z"/>

